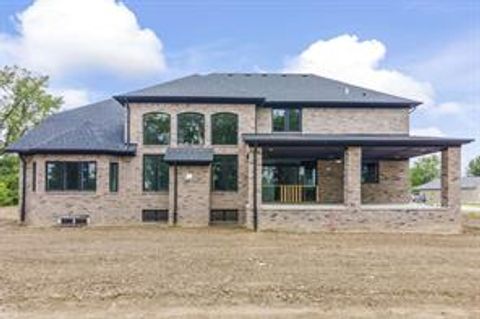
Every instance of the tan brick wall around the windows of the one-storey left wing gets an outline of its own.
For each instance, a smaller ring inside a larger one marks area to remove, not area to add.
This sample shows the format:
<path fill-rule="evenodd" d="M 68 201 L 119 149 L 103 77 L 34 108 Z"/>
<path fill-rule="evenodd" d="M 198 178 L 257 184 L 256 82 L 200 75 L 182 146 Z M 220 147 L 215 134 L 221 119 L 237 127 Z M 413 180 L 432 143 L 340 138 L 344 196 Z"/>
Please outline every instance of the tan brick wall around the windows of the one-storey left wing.
<path fill-rule="evenodd" d="M 168 209 L 167 192 L 142 191 L 142 168 L 131 165 L 133 158 L 105 155 L 35 155 L 27 163 L 26 222 L 52 225 L 58 217 L 89 214 L 92 224 L 121 224 L 141 221 L 142 209 Z M 32 191 L 32 163 L 37 163 L 37 189 Z M 95 192 L 45 191 L 46 161 L 96 161 Z M 109 191 L 109 163 L 119 163 L 119 191 Z M 140 176 L 140 177 L 139 177 Z"/>

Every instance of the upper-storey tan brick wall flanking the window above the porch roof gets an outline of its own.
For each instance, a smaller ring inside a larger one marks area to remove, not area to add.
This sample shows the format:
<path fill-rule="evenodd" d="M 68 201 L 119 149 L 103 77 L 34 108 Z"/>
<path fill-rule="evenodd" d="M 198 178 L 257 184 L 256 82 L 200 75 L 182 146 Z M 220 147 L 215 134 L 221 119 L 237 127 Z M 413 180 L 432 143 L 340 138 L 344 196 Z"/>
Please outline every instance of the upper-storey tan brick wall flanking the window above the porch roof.
<path fill-rule="evenodd" d="M 318 108 L 302 109 L 304 133 L 323 134 L 408 134 L 408 109 Z M 258 132 L 272 132 L 271 108 L 259 108 Z"/>

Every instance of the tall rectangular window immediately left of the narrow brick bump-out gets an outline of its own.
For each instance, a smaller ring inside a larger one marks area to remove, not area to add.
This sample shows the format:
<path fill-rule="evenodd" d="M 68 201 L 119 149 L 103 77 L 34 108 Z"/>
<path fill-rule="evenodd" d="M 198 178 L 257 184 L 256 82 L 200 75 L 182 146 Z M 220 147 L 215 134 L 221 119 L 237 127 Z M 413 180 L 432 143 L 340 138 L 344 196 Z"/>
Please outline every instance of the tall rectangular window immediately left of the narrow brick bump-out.
<path fill-rule="evenodd" d="M 143 190 L 158 192 L 168 190 L 168 164 L 163 155 L 143 156 Z"/>

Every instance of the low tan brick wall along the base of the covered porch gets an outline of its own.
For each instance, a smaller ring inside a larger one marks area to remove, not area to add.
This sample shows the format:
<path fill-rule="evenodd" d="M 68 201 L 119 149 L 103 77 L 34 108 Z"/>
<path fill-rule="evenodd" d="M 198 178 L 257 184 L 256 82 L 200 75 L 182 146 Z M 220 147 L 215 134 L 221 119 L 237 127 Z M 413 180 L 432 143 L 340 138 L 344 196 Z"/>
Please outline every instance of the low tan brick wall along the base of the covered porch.
<path fill-rule="evenodd" d="M 260 230 L 291 232 L 381 231 L 458 233 L 458 219 L 445 208 L 408 209 L 343 205 L 262 205 Z"/>

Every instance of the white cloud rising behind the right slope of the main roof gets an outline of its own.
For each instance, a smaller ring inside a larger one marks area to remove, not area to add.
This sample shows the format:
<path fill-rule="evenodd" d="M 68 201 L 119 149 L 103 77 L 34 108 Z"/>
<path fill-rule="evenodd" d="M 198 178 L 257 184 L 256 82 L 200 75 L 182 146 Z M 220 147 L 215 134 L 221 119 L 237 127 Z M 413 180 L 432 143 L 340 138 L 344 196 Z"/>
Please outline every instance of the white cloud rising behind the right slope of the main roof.
<path fill-rule="evenodd" d="M 314 42 L 288 60 L 284 71 L 315 73 L 433 105 L 434 91 L 429 83 L 380 67 L 386 52 L 378 40 L 360 41 L 355 35 L 344 34 Z"/>

